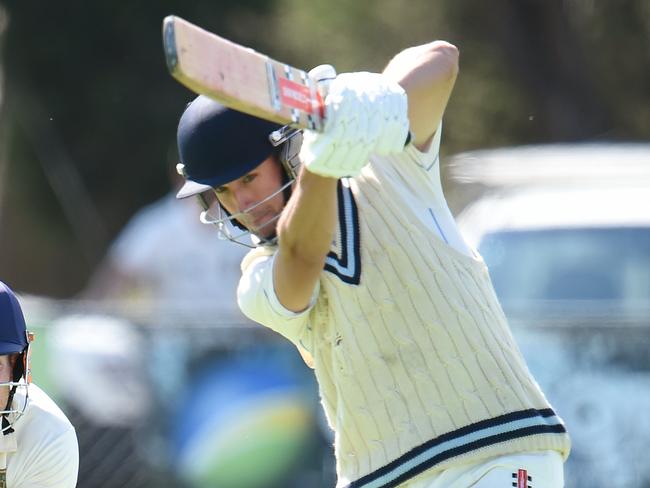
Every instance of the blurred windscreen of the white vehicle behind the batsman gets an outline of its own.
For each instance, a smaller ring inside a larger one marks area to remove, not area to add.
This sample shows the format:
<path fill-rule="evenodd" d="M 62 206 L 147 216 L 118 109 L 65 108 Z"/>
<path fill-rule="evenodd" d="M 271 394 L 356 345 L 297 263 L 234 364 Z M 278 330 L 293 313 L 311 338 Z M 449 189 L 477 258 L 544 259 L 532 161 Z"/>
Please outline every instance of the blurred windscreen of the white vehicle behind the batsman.
<path fill-rule="evenodd" d="M 479 252 L 502 302 L 650 303 L 650 228 L 492 232 Z"/>

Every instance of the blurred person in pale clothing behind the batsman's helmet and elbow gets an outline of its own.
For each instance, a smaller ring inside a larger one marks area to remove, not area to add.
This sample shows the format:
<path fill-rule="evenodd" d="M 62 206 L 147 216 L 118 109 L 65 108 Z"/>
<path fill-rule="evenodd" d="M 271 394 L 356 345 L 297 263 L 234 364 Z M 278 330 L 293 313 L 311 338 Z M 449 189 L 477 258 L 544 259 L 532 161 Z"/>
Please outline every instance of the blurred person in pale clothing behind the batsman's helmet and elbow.
<path fill-rule="evenodd" d="M 85 293 L 151 308 L 161 320 L 247 322 L 236 303 L 246 249 L 201 224 L 175 191 L 140 210 L 111 245 Z"/>

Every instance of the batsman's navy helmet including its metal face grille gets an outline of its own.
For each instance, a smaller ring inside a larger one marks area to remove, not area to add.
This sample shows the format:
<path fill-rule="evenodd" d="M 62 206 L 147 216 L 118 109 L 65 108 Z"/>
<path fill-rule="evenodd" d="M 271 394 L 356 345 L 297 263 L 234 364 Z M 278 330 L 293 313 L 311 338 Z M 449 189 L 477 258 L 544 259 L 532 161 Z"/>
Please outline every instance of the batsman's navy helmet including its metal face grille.
<path fill-rule="evenodd" d="M 225 238 L 248 245 L 241 240 L 249 234 L 248 231 L 234 236 L 231 228 L 225 225 L 230 223 L 242 228 L 237 215 L 228 215 L 218 205 L 217 211 L 213 211 L 202 195 L 241 178 L 274 154 L 284 168 L 285 181 L 278 192 L 264 201 L 279 192 L 288 195 L 298 171 L 297 156 L 302 134 L 299 130 L 237 112 L 199 95 L 187 105 L 180 118 L 177 142 L 180 155 L 177 170 L 185 178 L 185 184 L 176 197 L 198 196 L 204 207 L 201 214 L 203 223 L 216 224 Z"/>

